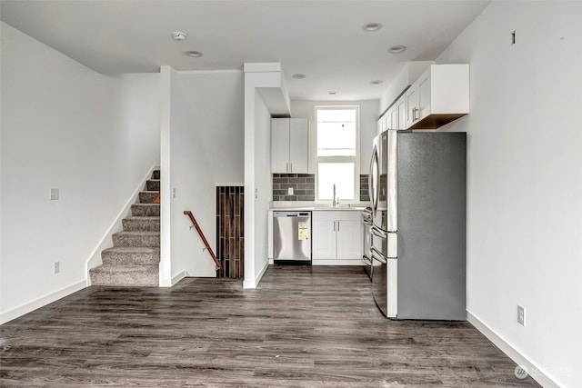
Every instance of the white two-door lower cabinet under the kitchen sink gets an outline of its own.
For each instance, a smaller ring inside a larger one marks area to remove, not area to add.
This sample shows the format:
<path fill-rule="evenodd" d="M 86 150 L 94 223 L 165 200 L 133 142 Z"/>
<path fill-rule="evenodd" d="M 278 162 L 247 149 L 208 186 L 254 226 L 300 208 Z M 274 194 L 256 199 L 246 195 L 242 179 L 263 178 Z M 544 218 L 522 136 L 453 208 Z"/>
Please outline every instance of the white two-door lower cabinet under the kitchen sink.
<path fill-rule="evenodd" d="M 361 212 L 323 210 L 312 213 L 312 264 L 361 265 Z"/>

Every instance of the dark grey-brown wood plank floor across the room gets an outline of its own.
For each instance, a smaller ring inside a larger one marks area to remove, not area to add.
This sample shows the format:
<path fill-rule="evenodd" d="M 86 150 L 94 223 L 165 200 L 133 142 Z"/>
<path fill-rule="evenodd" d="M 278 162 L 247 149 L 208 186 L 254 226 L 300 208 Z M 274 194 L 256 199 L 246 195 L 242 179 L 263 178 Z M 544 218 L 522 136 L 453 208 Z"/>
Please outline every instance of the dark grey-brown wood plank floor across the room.
<path fill-rule="evenodd" d="M 538 386 L 469 323 L 386 320 L 360 267 L 92 286 L 0 330 L 3 387 Z"/>

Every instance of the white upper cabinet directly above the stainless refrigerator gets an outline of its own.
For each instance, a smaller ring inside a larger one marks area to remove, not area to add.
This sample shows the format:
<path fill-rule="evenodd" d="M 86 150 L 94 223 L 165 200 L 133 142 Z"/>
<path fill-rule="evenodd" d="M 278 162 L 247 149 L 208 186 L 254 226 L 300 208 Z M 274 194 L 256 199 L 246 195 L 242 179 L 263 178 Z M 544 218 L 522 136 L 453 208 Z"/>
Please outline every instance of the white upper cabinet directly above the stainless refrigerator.
<path fill-rule="evenodd" d="M 469 65 L 430 65 L 406 91 L 406 129 L 436 129 L 469 113 Z"/>

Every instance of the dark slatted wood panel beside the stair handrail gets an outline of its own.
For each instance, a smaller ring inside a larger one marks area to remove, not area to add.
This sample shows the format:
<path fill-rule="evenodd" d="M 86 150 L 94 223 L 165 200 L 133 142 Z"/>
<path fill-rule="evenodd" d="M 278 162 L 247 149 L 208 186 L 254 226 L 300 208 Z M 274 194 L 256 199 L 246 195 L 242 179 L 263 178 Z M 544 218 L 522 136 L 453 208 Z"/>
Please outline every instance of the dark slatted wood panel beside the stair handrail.
<path fill-rule="evenodd" d="M 245 275 L 245 188 L 216 187 L 216 251 L 222 268 L 218 277 Z"/>

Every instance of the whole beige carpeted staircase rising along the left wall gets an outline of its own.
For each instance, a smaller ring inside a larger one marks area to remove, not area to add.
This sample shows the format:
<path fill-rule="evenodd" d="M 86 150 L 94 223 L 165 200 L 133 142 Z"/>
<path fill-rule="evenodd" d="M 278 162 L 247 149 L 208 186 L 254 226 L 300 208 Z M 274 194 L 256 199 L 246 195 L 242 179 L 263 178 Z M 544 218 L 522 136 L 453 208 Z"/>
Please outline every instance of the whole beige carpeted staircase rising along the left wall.
<path fill-rule="evenodd" d="M 124 218 L 123 231 L 113 234 L 113 248 L 101 253 L 103 264 L 89 270 L 91 284 L 115 286 L 158 286 L 160 263 L 160 204 L 154 199 L 160 190 L 160 172 L 154 171 Z"/>

